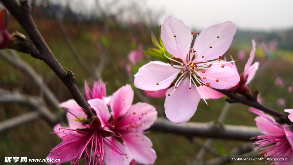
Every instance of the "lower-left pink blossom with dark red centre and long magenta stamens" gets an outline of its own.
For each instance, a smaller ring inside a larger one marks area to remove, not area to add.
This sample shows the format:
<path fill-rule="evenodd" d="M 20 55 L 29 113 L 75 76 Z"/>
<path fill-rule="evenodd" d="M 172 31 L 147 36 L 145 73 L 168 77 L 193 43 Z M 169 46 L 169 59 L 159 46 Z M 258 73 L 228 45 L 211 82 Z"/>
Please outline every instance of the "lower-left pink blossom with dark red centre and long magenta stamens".
<path fill-rule="evenodd" d="M 106 129 L 105 120 L 110 117 L 107 105 L 100 99 L 95 99 L 93 109 L 97 114 L 91 122 L 85 112 L 73 100 L 68 100 L 59 105 L 68 108 L 67 119 L 69 127 L 61 127 L 57 124 L 54 127 L 60 140 L 64 142 L 52 149 L 47 159 L 60 159 L 61 162 L 71 161 L 71 164 L 79 164 L 79 161 L 85 160 L 86 164 L 107 164 L 128 165 L 132 158 L 127 159 L 126 148 L 119 142 L 113 140 L 115 133 Z M 108 114 L 100 114 L 108 112 Z M 82 156 L 85 155 L 83 158 Z M 49 162 L 52 164 L 53 162 Z"/>

